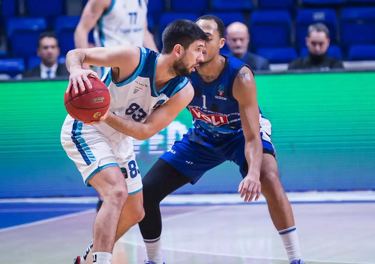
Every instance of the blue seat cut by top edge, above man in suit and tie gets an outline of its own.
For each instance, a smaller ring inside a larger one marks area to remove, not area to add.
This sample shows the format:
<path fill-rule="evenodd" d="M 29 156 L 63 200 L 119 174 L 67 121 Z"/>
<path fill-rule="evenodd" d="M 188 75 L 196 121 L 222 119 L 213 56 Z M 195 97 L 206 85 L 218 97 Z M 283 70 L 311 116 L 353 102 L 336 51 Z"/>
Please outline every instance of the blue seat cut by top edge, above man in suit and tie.
<path fill-rule="evenodd" d="M 25 6 L 30 17 L 51 17 L 63 14 L 62 0 L 25 0 Z"/>

